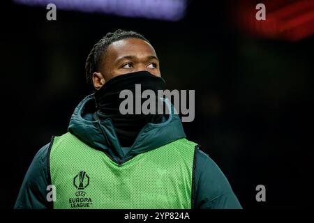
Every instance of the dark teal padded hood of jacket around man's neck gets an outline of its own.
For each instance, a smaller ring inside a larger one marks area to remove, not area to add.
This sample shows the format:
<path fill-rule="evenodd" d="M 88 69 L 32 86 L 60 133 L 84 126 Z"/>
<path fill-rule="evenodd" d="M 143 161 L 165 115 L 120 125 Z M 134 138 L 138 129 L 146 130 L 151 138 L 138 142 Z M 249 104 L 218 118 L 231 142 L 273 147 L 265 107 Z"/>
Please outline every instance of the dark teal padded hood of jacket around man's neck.
<path fill-rule="evenodd" d="M 163 102 L 171 111 L 170 114 L 163 116 L 162 123 L 147 123 L 140 130 L 126 156 L 121 149 L 111 119 L 94 120 L 93 115 L 96 112 L 94 94 L 88 95 L 77 105 L 70 118 L 68 131 L 89 146 L 105 151 L 114 160 L 128 160 L 137 154 L 186 137 L 179 116 L 174 114 L 173 105 L 167 99 L 163 99 Z"/>

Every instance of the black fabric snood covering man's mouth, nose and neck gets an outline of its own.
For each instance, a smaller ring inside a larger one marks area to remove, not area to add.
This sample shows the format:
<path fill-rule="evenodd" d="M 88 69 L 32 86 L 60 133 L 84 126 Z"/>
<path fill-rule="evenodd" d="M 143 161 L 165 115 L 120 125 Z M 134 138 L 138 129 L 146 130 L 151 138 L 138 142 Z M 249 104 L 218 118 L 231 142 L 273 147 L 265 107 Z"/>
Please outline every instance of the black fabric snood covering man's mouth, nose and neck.
<path fill-rule="evenodd" d="M 120 92 L 130 90 L 133 93 L 133 108 L 135 110 L 135 84 L 140 84 L 141 91 L 165 89 L 165 81 L 147 71 L 132 72 L 126 75 L 113 77 L 95 92 L 96 119 L 104 120 L 110 118 L 117 133 L 120 145 L 130 147 L 133 145 L 137 134 L 147 123 L 160 123 L 162 114 L 121 114 L 119 107 L 125 98 L 119 98 Z M 139 99 L 137 99 L 139 100 Z M 144 100 L 140 99 L 141 105 Z M 156 97 L 156 106 L 158 105 Z"/>

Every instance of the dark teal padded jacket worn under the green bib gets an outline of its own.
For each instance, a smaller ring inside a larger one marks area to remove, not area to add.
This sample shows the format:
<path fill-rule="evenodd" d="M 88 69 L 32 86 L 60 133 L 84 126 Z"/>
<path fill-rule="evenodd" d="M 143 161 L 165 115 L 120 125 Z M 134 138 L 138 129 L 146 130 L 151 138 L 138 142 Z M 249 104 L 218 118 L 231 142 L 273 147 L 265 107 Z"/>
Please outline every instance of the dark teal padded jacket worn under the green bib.
<path fill-rule="evenodd" d="M 166 102 L 170 105 L 169 102 Z M 126 162 L 137 154 L 144 153 L 174 140 L 186 137 L 179 116 L 165 116 L 163 123 L 148 123 L 138 134 L 130 151 L 124 155 L 110 119 L 96 121 L 94 95 L 89 95 L 77 105 L 68 126 L 68 131 L 93 148 L 103 150 L 117 163 Z M 50 208 L 47 201 L 47 185 L 50 173 L 47 159 L 47 144 L 40 148 L 23 180 L 15 208 Z M 216 163 L 196 149 L 193 167 L 192 206 L 193 208 L 241 208 L 230 183 Z"/>

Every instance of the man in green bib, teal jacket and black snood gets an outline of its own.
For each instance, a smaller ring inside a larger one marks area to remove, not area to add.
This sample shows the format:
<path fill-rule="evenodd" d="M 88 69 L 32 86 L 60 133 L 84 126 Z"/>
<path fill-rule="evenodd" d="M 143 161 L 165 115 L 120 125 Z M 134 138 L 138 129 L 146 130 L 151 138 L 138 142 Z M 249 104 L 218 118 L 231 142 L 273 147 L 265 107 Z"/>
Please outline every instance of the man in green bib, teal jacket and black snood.
<path fill-rule="evenodd" d="M 76 107 L 68 132 L 38 151 L 15 208 L 241 208 L 215 162 L 186 139 L 169 101 L 156 100 L 168 114 L 119 111 L 121 91 L 165 87 L 146 38 L 107 33 L 91 49 L 86 74 L 95 93 Z"/>

